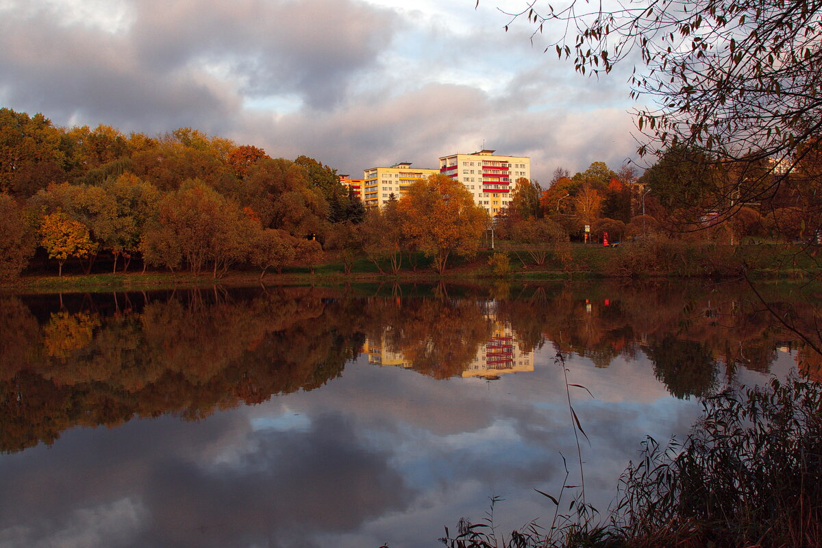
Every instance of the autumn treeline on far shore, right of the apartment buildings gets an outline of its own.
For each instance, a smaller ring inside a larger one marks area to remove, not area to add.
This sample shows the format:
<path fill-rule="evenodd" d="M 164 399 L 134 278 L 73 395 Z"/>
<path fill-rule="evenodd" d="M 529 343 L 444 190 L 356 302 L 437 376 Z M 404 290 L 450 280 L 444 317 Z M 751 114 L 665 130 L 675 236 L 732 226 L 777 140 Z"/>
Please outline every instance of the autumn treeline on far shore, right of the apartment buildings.
<path fill-rule="evenodd" d="M 616 172 L 594 162 L 571 176 L 556 168 L 547 189 L 531 183 L 501 217 L 516 237 L 526 219 L 549 218 L 572 239 L 584 227 L 598 242 L 663 236 L 684 242 L 737 244 L 746 237 L 818 243 L 822 230 L 822 155 L 810 143 L 801 158 L 728 166 L 700 150 L 672 147 L 641 177 L 630 164 Z M 757 189 L 750 186 L 756 182 Z M 745 193 L 743 194 L 743 190 Z"/>

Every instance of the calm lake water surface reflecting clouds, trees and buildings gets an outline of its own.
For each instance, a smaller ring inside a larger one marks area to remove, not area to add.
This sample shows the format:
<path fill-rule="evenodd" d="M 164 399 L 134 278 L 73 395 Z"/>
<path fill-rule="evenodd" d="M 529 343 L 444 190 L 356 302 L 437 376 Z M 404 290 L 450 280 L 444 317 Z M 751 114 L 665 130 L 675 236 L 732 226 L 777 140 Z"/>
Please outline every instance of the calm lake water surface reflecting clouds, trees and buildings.
<path fill-rule="evenodd" d="M 807 296 L 771 306 L 813 315 Z M 818 375 L 744 287 L 268 288 L 0 297 L 0 546 L 437 546 L 501 496 L 607 507 L 645 435 Z M 567 495 L 566 495 L 567 496 Z"/>

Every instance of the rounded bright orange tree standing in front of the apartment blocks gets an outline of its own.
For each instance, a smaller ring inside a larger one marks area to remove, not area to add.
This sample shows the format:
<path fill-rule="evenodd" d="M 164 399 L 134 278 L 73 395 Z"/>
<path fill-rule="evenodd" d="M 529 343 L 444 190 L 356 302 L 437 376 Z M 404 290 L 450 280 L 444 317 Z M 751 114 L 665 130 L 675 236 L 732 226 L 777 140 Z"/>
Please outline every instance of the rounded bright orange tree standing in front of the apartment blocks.
<path fill-rule="evenodd" d="M 443 274 L 453 253 L 470 256 L 479 247 L 490 219 L 473 203 L 462 183 L 445 175 L 414 182 L 399 200 L 404 216 L 403 232 Z"/>

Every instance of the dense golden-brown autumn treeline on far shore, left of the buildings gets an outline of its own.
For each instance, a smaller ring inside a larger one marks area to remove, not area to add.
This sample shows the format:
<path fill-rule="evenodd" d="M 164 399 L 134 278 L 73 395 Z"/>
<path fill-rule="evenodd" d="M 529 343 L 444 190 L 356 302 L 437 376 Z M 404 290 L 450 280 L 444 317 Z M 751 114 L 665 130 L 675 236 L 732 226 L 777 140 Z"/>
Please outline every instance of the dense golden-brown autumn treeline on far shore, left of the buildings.
<path fill-rule="evenodd" d="M 78 260 L 90 273 L 102 254 L 115 271 L 139 256 L 215 277 L 241 262 L 312 265 L 335 225 L 364 213 L 335 169 L 306 156 L 274 159 L 190 128 L 126 136 L 0 109 L 2 278 L 38 246 L 58 272 Z"/>

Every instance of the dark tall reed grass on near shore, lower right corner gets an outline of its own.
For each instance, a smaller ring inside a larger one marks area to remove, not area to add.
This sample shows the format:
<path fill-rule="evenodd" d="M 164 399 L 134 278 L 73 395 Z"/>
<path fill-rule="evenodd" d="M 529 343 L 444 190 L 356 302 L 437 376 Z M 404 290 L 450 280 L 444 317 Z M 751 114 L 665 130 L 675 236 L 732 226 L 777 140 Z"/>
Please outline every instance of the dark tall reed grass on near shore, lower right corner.
<path fill-rule="evenodd" d="M 566 468 L 567 476 L 567 468 Z M 566 482 L 567 483 L 567 482 Z M 450 548 L 822 546 L 822 386 L 791 376 L 703 400 L 683 442 L 648 438 L 600 515 L 579 490 L 543 528 L 498 536 L 493 513 L 460 520 Z M 557 509 L 561 495 L 546 495 Z M 497 500 L 492 500 L 493 504 Z"/>

